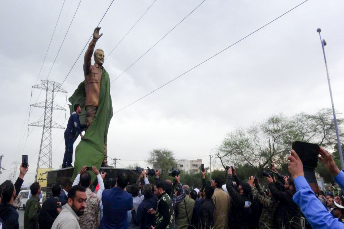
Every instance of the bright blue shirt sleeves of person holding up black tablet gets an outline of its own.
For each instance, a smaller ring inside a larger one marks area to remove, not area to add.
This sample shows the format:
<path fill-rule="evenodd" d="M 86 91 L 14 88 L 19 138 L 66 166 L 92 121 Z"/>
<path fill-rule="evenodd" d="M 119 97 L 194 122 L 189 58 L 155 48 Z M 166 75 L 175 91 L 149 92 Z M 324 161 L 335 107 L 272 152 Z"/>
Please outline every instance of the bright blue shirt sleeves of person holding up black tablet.
<path fill-rule="evenodd" d="M 334 180 L 342 189 L 344 188 L 343 171 L 338 173 Z M 332 214 L 316 198 L 304 176 L 295 178 L 294 183 L 297 192 L 293 196 L 293 201 L 300 206 L 303 215 L 313 229 L 344 229 L 344 224 L 338 221 L 337 218 L 333 218 Z"/>

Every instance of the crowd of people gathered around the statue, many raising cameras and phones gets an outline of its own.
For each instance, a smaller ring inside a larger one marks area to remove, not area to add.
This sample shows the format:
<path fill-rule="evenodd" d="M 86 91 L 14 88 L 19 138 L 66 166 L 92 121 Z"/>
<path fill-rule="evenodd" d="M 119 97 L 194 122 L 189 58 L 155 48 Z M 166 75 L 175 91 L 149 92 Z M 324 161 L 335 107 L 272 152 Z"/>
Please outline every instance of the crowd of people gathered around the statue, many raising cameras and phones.
<path fill-rule="evenodd" d="M 343 188 L 344 173 L 332 156 L 320 149 L 320 160 Z M 40 205 L 41 186 L 30 186 L 32 196 L 26 202 L 25 229 L 301 229 L 344 228 L 344 199 L 329 190 L 315 195 L 304 178 L 303 165 L 295 151 L 288 156 L 291 176 L 267 176 L 263 188 L 255 176 L 247 182 L 239 179 L 235 168 L 227 169 L 227 179 L 214 177 L 206 181 L 202 173 L 202 187 L 190 188 L 174 180 L 155 182 L 141 171 L 138 181 L 129 184 L 130 173 L 119 172 L 116 180 L 107 179 L 96 167 L 92 172 L 98 184 L 91 191 L 91 175 L 84 166 L 74 182 L 52 187 L 52 197 Z M 273 170 L 278 172 L 275 167 Z M 20 175 L 13 184 L 1 184 L 0 228 L 19 229 L 19 215 L 14 206 L 28 168 L 20 167 Z M 305 220 L 303 220 L 305 219 Z M 305 224 L 305 222 L 307 222 Z M 305 226 L 306 225 L 306 226 Z"/>

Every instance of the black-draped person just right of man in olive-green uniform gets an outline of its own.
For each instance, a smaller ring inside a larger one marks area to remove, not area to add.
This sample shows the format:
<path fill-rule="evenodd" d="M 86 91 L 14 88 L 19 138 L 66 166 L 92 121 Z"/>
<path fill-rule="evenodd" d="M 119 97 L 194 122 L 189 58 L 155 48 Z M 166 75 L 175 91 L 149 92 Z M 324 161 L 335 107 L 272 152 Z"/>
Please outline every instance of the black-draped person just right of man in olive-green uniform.
<path fill-rule="evenodd" d="M 40 229 L 51 229 L 57 216 L 57 200 L 55 197 L 50 197 L 42 205 L 38 221 Z"/>

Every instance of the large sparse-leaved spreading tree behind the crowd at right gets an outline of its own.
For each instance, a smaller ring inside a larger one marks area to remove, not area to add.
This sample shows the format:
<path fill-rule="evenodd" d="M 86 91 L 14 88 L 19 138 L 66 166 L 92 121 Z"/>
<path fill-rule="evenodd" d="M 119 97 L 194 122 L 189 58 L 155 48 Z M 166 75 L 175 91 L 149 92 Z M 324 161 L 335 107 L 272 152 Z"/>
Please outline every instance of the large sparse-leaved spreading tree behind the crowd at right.
<path fill-rule="evenodd" d="M 337 119 L 341 126 L 343 119 Z M 329 147 L 336 141 L 332 110 L 321 109 L 314 114 L 299 113 L 287 117 L 282 113 L 253 123 L 248 128 L 236 128 L 228 133 L 215 149 L 223 167 L 251 166 L 258 177 L 270 163 L 282 167 L 287 162 L 293 140 L 308 141 Z"/>

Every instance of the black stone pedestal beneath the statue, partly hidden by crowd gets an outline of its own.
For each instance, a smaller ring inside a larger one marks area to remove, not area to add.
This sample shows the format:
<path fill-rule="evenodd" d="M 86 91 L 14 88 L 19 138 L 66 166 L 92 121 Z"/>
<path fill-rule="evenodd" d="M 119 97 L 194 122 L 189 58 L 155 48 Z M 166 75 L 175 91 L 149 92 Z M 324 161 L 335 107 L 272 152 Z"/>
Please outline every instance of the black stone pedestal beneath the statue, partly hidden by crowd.
<path fill-rule="evenodd" d="M 123 168 L 109 168 L 109 167 L 100 167 L 99 172 L 106 172 L 107 176 L 105 177 L 104 181 L 109 180 L 109 179 L 114 179 L 116 180 L 117 175 L 122 171 L 125 170 L 129 173 L 130 175 L 130 180 L 129 184 L 135 183 L 139 177 L 140 172 L 136 171 L 136 169 L 123 169 Z M 47 184 L 46 184 L 46 196 L 49 198 L 52 196 L 51 194 L 51 188 L 53 187 L 54 184 L 58 183 L 63 187 L 63 184 L 67 180 L 71 180 L 74 172 L 73 167 L 69 168 L 64 168 L 64 169 L 56 169 L 56 170 L 51 170 L 47 171 Z M 73 181 L 72 181 L 73 183 Z M 92 190 L 95 189 L 98 181 L 96 180 L 93 183 Z"/>

